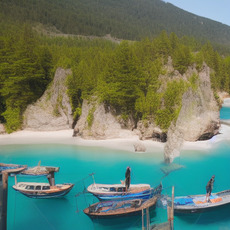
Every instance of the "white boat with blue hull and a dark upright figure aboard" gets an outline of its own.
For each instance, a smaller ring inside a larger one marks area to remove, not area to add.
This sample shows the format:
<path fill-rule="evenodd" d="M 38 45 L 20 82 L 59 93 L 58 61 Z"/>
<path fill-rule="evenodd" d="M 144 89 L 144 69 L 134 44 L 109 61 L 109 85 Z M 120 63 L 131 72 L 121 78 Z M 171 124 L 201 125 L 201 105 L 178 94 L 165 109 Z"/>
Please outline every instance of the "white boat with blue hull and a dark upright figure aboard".
<path fill-rule="evenodd" d="M 122 184 L 91 184 L 87 191 L 99 200 L 149 199 L 162 191 L 162 185 L 156 189 L 149 184 L 131 184 L 128 191 Z"/>

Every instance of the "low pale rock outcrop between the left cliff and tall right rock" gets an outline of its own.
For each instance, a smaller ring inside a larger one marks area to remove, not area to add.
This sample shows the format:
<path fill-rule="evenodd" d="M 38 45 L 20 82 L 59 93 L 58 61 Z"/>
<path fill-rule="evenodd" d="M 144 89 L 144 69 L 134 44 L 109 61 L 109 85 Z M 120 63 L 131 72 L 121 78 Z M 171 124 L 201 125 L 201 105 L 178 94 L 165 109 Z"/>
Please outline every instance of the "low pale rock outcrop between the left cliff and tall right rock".
<path fill-rule="evenodd" d="M 126 138 L 138 135 L 141 140 L 165 142 L 166 133 L 163 133 L 152 122 L 139 121 L 136 129 L 132 118 L 124 120 L 121 115 L 107 108 L 103 103 L 92 98 L 83 100 L 82 114 L 74 128 L 73 136 L 85 139 Z"/>

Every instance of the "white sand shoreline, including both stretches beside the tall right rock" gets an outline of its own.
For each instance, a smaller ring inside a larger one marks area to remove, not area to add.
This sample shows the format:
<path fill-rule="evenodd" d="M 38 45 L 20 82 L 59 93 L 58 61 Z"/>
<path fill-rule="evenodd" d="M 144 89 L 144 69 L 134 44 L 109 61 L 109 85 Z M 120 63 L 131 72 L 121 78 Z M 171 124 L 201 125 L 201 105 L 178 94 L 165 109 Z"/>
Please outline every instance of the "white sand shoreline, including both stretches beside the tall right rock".
<path fill-rule="evenodd" d="M 73 130 L 59 131 L 30 131 L 22 130 L 11 134 L 0 135 L 0 145 L 16 145 L 16 144 L 65 144 L 85 147 L 102 147 L 109 149 L 118 149 L 128 152 L 135 152 L 134 144 L 142 144 L 148 152 L 164 152 L 165 143 L 155 142 L 151 140 L 139 140 L 137 135 L 122 138 L 106 139 L 106 140 L 86 140 L 80 137 L 73 137 Z M 188 142 L 185 141 L 181 151 L 186 150 L 208 150 L 216 146 L 216 144 L 230 140 L 230 126 L 222 124 L 220 134 L 212 137 L 207 141 Z M 207 151 L 205 151 L 207 152 Z M 141 154 L 142 152 L 140 152 Z M 144 152 L 143 152 L 144 153 Z"/>

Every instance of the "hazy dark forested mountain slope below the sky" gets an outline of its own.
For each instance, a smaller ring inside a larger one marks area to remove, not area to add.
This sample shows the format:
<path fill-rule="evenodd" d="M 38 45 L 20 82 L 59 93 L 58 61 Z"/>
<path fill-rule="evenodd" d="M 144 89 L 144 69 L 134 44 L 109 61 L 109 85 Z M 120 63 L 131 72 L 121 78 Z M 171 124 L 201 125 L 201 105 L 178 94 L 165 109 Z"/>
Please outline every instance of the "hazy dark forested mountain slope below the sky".
<path fill-rule="evenodd" d="M 53 25 L 67 34 L 140 40 L 162 30 L 230 46 L 230 27 L 161 0 L 1 0 L 0 15 Z"/>

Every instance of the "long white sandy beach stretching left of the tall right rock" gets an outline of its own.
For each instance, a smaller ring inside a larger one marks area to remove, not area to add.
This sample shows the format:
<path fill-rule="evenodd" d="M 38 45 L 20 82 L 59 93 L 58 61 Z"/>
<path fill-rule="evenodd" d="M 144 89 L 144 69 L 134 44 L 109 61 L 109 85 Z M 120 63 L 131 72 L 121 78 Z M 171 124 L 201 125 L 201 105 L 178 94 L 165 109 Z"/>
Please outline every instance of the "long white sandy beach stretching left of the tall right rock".
<path fill-rule="evenodd" d="M 106 140 L 85 140 L 80 137 L 73 137 L 73 130 L 60 131 L 28 131 L 22 130 L 11 134 L 0 135 L 0 145 L 11 144 L 67 144 L 79 146 L 96 146 L 112 149 L 119 149 L 134 152 L 135 143 L 143 143 L 146 151 L 163 151 L 164 144 L 153 141 L 140 141 L 137 135 L 128 137 L 106 139 Z"/>

